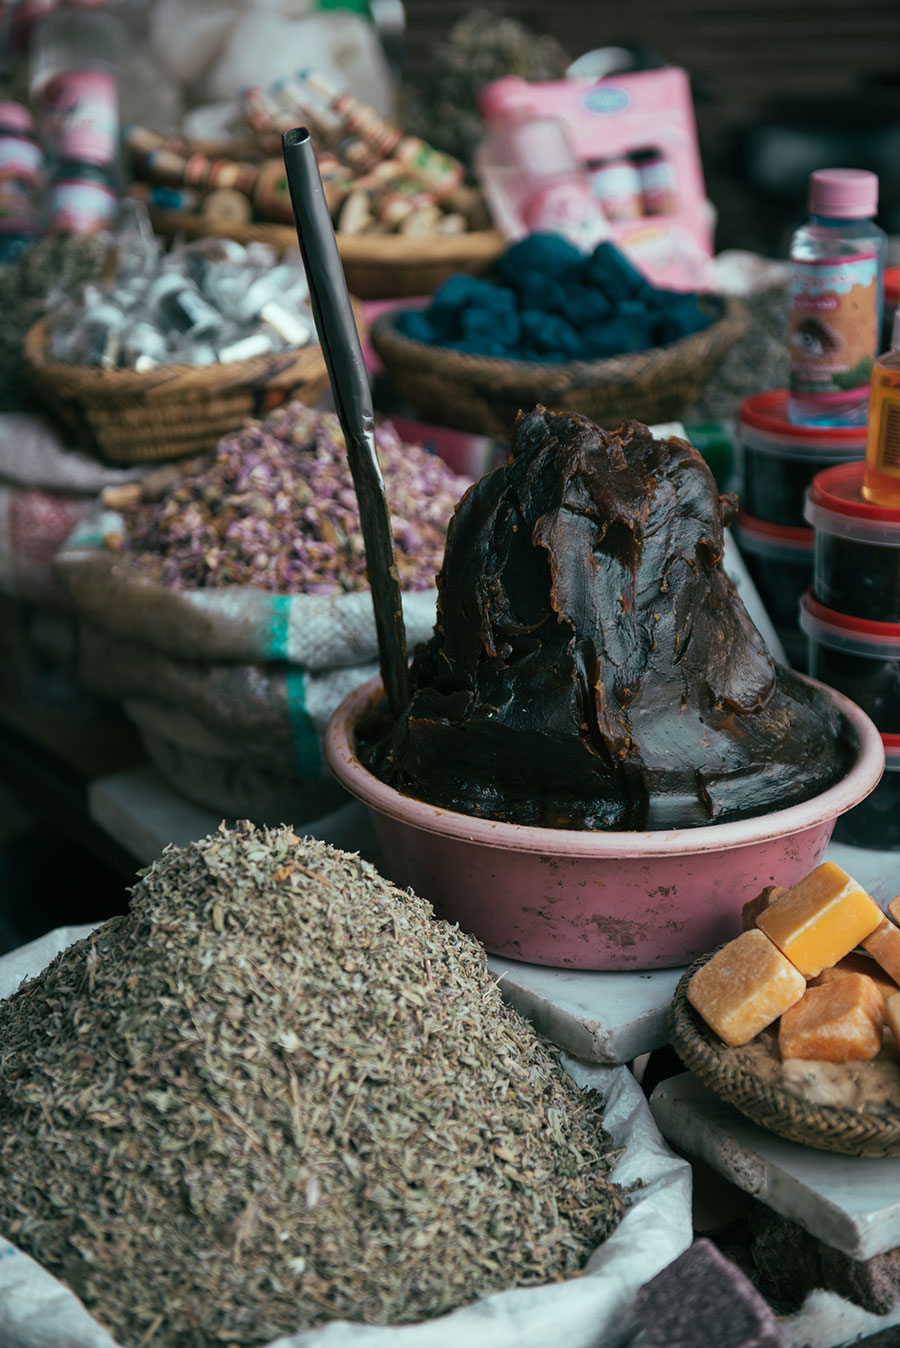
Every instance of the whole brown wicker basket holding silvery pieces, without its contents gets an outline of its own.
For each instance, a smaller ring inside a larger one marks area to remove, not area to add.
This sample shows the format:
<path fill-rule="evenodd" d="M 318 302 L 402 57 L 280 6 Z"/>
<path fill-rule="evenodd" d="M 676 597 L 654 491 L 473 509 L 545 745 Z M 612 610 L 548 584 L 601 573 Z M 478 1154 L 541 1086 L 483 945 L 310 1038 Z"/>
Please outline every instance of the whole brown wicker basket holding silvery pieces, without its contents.
<path fill-rule="evenodd" d="M 357 313 L 357 324 L 361 318 Z M 24 365 L 47 408 L 109 464 L 146 464 L 214 449 L 245 417 L 290 398 L 314 403 L 329 376 L 317 344 L 234 364 L 94 369 L 47 357 L 47 319 L 28 332 Z"/>

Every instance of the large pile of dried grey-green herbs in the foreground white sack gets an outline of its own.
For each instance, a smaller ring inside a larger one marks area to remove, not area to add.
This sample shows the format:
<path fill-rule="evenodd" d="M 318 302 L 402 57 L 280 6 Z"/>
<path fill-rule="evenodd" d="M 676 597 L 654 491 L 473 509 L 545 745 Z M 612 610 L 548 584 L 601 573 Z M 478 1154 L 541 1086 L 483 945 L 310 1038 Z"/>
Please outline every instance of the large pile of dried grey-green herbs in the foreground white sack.
<path fill-rule="evenodd" d="M 579 1270 L 598 1099 L 357 856 L 222 825 L 0 1003 L 0 1231 L 127 1348 L 423 1320 Z"/>

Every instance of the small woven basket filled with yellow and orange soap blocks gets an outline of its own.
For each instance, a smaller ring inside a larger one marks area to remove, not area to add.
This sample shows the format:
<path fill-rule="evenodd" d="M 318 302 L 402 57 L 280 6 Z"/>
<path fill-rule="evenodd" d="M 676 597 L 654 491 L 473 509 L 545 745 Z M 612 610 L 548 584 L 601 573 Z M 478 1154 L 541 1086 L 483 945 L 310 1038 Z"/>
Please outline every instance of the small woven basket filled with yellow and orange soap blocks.
<path fill-rule="evenodd" d="M 900 903 L 882 914 L 833 863 L 754 903 L 741 936 L 682 975 L 672 1047 L 769 1132 L 900 1155 Z"/>

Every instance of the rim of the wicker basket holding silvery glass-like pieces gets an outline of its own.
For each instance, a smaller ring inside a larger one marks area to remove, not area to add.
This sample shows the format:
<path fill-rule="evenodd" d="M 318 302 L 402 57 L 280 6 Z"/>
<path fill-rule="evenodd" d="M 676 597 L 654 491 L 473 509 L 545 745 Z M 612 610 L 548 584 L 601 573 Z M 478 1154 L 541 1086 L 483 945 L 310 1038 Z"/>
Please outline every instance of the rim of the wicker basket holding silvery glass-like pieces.
<path fill-rule="evenodd" d="M 98 369 L 92 365 L 69 365 L 50 360 L 47 340 L 49 317 L 44 315 L 26 333 L 23 355 L 31 376 L 46 386 L 57 400 L 74 398 L 96 402 L 132 396 L 148 403 L 168 402 L 171 398 L 187 394 L 199 396 L 238 388 L 282 388 L 327 376 L 325 357 L 317 342 L 299 350 L 267 352 L 229 364 L 172 364 L 136 371 Z"/>

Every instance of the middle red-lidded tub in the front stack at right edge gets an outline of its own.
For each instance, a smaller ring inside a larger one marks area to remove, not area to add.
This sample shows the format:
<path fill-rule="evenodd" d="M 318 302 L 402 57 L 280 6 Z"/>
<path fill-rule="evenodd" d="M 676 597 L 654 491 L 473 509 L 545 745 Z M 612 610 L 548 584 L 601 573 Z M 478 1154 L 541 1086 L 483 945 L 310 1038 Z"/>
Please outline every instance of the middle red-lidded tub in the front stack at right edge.
<path fill-rule="evenodd" d="M 812 678 L 851 698 L 882 735 L 899 735 L 900 624 L 838 613 L 807 594 L 800 605 L 800 627 Z"/>

